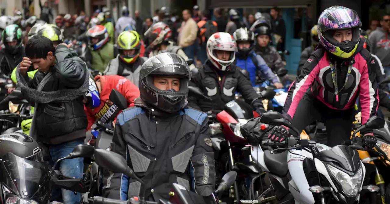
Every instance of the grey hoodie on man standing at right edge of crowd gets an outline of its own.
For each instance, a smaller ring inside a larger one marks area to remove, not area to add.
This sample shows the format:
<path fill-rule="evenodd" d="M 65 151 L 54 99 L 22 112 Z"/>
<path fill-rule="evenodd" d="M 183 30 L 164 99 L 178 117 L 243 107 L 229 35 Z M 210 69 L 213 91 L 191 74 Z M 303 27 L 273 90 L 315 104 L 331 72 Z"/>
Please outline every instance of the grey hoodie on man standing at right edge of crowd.
<path fill-rule="evenodd" d="M 390 35 L 382 28 L 377 28 L 368 37 L 371 42 L 371 52 L 378 56 L 384 67 L 390 66 Z"/>

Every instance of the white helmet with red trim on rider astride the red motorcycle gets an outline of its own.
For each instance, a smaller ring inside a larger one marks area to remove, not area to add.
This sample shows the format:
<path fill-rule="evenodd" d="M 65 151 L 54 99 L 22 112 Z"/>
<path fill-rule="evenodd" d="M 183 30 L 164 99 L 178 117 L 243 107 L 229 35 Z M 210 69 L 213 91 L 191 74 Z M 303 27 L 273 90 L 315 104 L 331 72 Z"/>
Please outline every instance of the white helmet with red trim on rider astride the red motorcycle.
<path fill-rule="evenodd" d="M 213 63 L 214 66 L 225 71 L 234 62 L 236 58 L 237 44 L 233 36 L 229 33 L 218 32 L 211 35 L 207 40 L 207 58 Z M 223 61 L 217 58 L 215 51 L 230 51 L 230 58 L 228 61 Z"/>

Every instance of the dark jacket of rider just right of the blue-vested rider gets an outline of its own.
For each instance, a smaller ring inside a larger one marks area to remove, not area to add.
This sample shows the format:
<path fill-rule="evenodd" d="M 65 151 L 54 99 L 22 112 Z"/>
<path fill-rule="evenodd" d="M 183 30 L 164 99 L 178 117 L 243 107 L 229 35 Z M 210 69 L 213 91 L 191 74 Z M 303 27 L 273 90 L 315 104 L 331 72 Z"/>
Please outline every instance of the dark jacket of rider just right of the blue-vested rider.
<path fill-rule="evenodd" d="M 268 67 L 271 68 L 274 73 L 277 73 L 279 69 L 284 69 L 282 58 L 274 47 L 269 45 L 267 47 L 260 47 L 259 45 L 256 45 L 255 51 L 256 54 L 259 54 L 264 61 L 266 61 Z"/>

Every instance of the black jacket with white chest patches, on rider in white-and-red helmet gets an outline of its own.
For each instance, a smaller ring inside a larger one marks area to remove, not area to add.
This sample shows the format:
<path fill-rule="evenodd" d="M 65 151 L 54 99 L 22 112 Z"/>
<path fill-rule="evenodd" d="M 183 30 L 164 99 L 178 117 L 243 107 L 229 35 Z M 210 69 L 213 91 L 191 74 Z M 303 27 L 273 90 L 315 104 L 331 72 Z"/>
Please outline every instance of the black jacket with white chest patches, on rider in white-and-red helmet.
<path fill-rule="evenodd" d="M 245 102 L 252 105 L 254 109 L 262 109 L 261 99 L 252 87 L 252 83 L 245 75 L 241 73 L 241 68 L 236 65 L 230 65 L 227 71 L 212 68 L 214 65 L 206 61 L 204 65 L 198 68 L 198 72 L 191 77 L 190 85 L 199 87 L 206 96 L 211 97 L 211 101 L 197 96 L 188 97 L 188 106 L 207 112 L 214 110 L 223 110 L 226 103 L 235 98 L 236 91 L 241 93 Z"/>

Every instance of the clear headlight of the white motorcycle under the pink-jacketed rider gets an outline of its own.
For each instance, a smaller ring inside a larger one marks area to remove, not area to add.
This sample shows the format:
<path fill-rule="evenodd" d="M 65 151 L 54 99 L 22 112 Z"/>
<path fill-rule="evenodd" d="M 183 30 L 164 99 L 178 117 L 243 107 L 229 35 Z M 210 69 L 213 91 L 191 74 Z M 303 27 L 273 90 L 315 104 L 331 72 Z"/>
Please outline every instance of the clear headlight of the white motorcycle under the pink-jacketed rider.
<path fill-rule="evenodd" d="M 330 173 L 340 183 L 342 191 L 347 196 L 356 196 L 360 191 L 362 184 L 362 167 L 356 172 L 354 176 L 349 176 L 347 173 L 337 169 L 336 167 L 327 164 Z"/>

